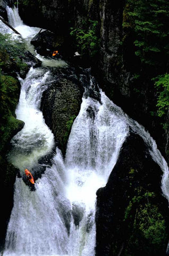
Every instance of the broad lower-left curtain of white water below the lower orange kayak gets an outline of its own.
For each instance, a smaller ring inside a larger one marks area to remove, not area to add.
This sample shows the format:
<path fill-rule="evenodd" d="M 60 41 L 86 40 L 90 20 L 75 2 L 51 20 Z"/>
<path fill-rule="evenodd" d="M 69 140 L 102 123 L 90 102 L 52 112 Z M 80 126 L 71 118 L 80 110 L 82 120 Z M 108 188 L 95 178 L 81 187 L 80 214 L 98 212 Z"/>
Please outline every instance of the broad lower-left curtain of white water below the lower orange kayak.
<path fill-rule="evenodd" d="M 36 191 L 30 192 L 23 180 L 16 178 L 4 255 L 67 254 L 68 235 L 62 211 L 68 214 L 71 205 L 62 196 L 64 166 L 58 150 L 54 161 L 36 182 Z"/>

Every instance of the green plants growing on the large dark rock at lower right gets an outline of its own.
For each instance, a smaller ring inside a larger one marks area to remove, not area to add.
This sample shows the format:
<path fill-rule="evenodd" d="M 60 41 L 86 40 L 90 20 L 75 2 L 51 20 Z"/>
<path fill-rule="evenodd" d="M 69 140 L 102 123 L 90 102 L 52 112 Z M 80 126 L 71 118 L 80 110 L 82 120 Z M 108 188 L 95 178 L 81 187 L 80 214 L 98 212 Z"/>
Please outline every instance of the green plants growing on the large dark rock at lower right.
<path fill-rule="evenodd" d="M 131 229 L 125 256 L 163 254 L 166 250 L 167 232 L 165 220 L 155 204 L 156 195 L 138 189 L 138 193 L 126 207 L 124 221 Z"/>

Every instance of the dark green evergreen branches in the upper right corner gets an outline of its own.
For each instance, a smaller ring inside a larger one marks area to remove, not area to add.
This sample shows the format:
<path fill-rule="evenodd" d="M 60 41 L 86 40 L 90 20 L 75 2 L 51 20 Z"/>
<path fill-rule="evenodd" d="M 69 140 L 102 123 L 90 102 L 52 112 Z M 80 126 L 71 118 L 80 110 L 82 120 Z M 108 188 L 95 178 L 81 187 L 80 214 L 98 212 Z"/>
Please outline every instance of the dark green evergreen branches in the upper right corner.
<path fill-rule="evenodd" d="M 136 55 L 147 65 L 157 65 L 168 58 L 168 1 L 127 0 L 123 13 L 123 28 L 133 33 Z"/>

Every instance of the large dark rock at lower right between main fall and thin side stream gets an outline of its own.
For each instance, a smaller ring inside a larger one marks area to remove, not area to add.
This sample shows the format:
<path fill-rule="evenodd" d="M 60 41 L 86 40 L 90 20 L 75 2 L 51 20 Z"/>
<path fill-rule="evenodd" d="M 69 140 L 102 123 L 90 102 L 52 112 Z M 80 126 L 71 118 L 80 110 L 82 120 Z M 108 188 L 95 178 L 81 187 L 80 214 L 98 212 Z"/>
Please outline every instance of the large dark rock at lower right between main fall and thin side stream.
<path fill-rule="evenodd" d="M 161 178 L 162 170 L 147 145 L 130 133 L 106 187 L 97 191 L 97 256 L 165 255 L 168 202 L 162 195 Z M 156 235 L 151 236 L 151 229 Z"/>

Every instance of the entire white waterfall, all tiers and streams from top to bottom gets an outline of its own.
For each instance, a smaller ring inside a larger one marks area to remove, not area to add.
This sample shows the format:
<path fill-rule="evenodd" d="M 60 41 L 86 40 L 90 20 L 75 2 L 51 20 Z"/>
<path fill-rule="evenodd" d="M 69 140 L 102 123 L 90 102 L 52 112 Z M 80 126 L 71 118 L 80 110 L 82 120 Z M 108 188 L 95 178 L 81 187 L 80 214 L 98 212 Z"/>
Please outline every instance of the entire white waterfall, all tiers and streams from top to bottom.
<path fill-rule="evenodd" d="M 11 23 L 15 19 L 15 29 L 30 41 L 37 29 L 24 25 L 16 8 L 7 7 L 7 12 Z M 50 60 L 49 63 L 53 65 Z M 65 64 L 55 61 L 55 65 Z M 16 116 L 25 126 L 12 139 L 9 156 L 21 176 L 25 167 L 33 169 L 38 159 L 54 147 L 53 134 L 39 110 L 41 95 L 50 79 L 50 71 L 40 67 L 31 68 L 21 80 Z M 162 190 L 169 199 L 168 167 L 155 141 L 101 90 L 100 96 L 100 102 L 90 97 L 82 99 L 65 159 L 56 148 L 53 165 L 46 166 L 35 191 L 30 191 L 22 178 L 16 178 L 4 256 L 95 255 L 96 191 L 106 185 L 130 128 L 149 145 L 151 156 L 162 168 Z"/>

